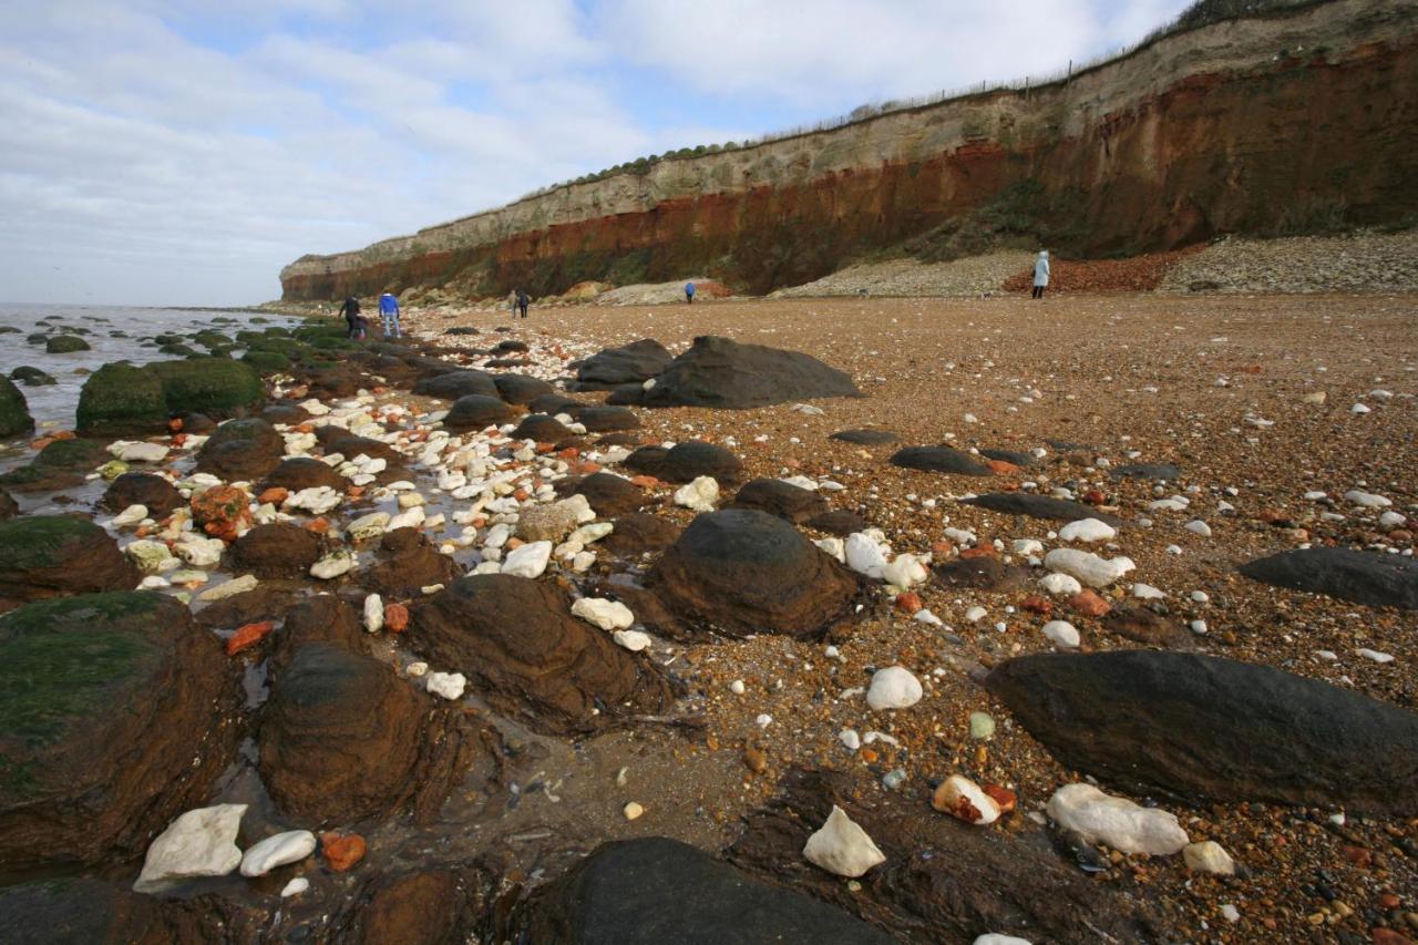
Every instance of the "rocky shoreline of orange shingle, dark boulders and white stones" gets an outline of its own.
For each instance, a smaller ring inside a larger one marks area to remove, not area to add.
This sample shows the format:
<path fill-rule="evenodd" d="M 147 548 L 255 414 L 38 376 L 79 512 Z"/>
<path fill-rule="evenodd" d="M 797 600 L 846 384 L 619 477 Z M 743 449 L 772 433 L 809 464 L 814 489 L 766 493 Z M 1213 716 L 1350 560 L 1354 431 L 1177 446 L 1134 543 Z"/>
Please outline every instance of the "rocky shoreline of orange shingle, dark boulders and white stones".
<path fill-rule="evenodd" d="M 89 941 L 1404 941 L 1411 316 L 415 308 L 105 368 L 102 436 L 0 475 L 0 900 Z"/>

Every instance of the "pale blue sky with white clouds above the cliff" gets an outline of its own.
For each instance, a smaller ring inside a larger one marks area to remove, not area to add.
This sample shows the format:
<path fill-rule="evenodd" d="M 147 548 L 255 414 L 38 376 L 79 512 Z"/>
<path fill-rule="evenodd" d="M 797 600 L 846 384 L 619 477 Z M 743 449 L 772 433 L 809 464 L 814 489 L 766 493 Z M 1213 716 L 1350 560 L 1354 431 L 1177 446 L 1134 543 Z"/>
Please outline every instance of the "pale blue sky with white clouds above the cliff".
<path fill-rule="evenodd" d="M 635 158 L 1064 68 L 1188 0 L 4 0 L 0 299 L 281 267 Z"/>

